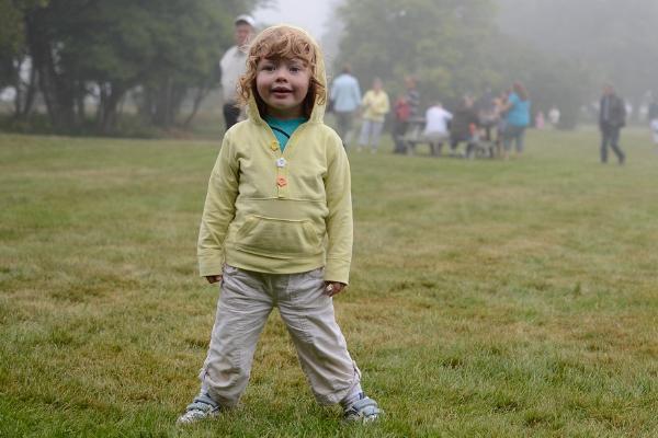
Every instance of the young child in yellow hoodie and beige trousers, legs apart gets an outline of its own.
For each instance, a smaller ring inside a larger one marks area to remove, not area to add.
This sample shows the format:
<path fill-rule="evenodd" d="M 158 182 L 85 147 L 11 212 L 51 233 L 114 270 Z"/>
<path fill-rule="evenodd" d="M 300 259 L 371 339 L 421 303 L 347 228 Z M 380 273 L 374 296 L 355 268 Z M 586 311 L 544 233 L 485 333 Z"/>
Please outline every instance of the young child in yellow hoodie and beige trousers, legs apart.
<path fill-rule="evenodd" d="M 263 31 L 249 49 L 240 97 L 248 119 L 224 137 L 198 237 L 201 275 L 222 293 L 201 392 L 179 423 L 238 403 L 274 307 L 316 400 L 340 403 L 345 420 L 374 420 L 379 408 L 361 389 L 333 314 L 332 297 L 348 285 L 352 201 L 342 142 L 322 122 L 317 44 L 292 26 Z"/>

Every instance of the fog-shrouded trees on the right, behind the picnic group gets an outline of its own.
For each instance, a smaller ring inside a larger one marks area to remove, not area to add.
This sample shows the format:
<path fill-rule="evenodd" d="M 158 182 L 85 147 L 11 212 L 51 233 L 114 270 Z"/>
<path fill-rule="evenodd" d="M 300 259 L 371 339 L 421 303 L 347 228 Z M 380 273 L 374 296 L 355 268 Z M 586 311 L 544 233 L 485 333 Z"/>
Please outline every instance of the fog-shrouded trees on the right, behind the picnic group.
<path fill-rule="evenodd" d="M 658 2 L 646 0 L 342 1 L 338 64 L 362 81 L 397 83 L 415 74 L 421 95 L 456 101 L 512 81 L 533 107 L 558 106 L 563 128 L 605 81 L 638 102 L 655 84 Z"/>

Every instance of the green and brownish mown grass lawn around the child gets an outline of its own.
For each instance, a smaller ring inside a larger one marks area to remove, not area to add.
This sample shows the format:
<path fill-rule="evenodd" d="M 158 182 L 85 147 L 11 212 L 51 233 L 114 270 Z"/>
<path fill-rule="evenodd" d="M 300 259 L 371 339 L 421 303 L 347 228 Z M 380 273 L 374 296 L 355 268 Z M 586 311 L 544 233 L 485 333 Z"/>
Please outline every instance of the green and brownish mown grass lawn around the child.
<path fill-rule="evenodd" d="M 240 407 L 180 429 L 217 290 L 195 242 L 218 141 L 0 136 L 0 437 L 655 437 L 658 153 L 530 132 L 509 162 L 350 152 L 336 299 L 387 412 L 314 403 L 279 315 Z"/>

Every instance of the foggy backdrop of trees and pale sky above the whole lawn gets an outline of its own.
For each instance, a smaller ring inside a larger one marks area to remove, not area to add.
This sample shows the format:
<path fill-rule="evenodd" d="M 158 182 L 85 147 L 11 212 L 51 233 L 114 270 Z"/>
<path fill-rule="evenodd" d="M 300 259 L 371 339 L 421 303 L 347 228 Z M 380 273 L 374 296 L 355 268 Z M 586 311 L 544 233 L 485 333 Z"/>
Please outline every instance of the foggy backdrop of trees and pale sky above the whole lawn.
<path fill-rule="evenodd" d="M 390 95 L 419 79 L 422 106 L 513 81 L 560 127 L 594 120 L 611 82 L 644 123 L 657 87 L 653 0 L 0 0 L 1 127 L 154 136 L 219 123 L 217 62 L 232 20 L 287 22 Z"/>

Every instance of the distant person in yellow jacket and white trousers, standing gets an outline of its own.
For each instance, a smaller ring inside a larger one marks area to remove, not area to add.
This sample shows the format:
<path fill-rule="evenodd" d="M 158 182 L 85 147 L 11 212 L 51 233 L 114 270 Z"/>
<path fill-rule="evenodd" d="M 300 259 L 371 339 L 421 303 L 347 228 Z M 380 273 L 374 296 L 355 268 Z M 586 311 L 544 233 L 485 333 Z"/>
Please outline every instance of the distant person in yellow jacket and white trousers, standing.
<path fill-rule="evenodd" d="M 359 137 L 359 151 L 364 147 L 370 147 L 371 153 L 376 153 L 382 138 L 384 120 L 390 110 L 388 94 L 384 91 L 379 78 L 373 80 L 373 88 L 365 93 L 361 105 L 363 108 L 363 125 Z"/>

